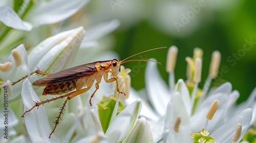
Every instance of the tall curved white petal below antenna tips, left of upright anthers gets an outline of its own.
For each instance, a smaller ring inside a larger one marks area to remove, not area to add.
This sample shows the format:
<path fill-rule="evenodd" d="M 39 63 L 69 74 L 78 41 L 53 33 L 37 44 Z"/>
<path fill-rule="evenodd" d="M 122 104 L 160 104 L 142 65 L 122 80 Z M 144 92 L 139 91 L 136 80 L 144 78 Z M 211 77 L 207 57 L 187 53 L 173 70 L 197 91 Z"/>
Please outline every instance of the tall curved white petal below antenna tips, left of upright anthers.
<path fill-rule="evenodd" d="M 156 61 L 155 59 L 150 60 Z M 157 70 L 157 63 L 155 62 L 147 62 L 145 85 L 148 93 L 148 99 L 150 99 L 154 109 L 156 109 L 160 115 L 164 115 L 171 95 L 168 92 L 167 85 L 162 80 Z"/>

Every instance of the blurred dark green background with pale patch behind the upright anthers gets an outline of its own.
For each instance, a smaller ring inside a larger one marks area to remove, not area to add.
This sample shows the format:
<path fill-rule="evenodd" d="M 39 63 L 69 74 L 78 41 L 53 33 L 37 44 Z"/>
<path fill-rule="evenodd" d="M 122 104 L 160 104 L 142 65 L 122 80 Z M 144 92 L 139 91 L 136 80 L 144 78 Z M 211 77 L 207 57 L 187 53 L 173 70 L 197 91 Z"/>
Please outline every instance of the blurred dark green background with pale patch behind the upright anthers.
<path fill-rule="evenodd" d="M 212 52 L 221 53 L 221 66 L 227 66 L 228 73 L 219 74 L 217 85 L 224 82 L 232 84 L 232 90 L 240 92 L 238 102 L 247 99 L 256 85 L 256 17 L 255 1 L 92 1 L 87 6 L 90 16 L 98 17 L 95 21 L 120 19 L 121 25 L 113 33 L 113 50 L 120 55 L 120 60 L 141 51 L 156 47 L 176 45 L 178 47 L 175 69 L 176 81 L 186 80 L 185 57 L 193 57 L 195 47 L 200 47 L 203 54 L 202 81 L 207 78 Z M 182 20 L 191 7 L 204 4 L 198 13 L 191 14 L 189 22 L 175 29 L 174 22 Z M 169 13 L 168 13 L 169 12 Z M 192 25 L 192 26 L 190 26 Z M 168 29 L 169 27 L 169 29 Z M 245 51 L 245 39 L 255 41 L 250 50 Z M 233 57 L 238 54 L 238 58 Z M 167 49 L 146 53 L 147 58 L 155 58 L 162 78 L 168 81 L 165 71 Z M 240 55 L 240 56 L 239 56 Z M 143 55 L 142 55 L 143 56 Z M 231 56 L 231 57 L 230 57 Z M 139 59 L 135 57 L 133 59 Z M 231 61 L 232 60 L 232 61 Z M 125 63 L 133 70 L 136 62 Z M 132 87 L 136 90 L 145 87 L 145 67 L 138 74 L 131 76 Z M 154 75 L 152 75 L 154 76 Z M 201 88 L 203 82 L 199 85 Z"/>

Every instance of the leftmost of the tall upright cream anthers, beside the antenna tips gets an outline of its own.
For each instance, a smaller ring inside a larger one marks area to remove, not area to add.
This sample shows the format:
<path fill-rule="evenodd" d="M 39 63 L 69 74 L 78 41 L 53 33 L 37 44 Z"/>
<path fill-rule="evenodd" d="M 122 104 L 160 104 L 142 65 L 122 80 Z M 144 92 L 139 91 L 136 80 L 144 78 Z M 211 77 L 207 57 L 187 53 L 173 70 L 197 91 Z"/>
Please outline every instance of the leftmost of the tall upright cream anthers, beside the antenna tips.
<path fill-rule="evenodd" d="M 167 61 L 166 61 L 167 73 L 171 73 L 174 71 L 177 54 L 178 54 L 178 48 L 175 45 L 171 46 L 167 54 Z"/>

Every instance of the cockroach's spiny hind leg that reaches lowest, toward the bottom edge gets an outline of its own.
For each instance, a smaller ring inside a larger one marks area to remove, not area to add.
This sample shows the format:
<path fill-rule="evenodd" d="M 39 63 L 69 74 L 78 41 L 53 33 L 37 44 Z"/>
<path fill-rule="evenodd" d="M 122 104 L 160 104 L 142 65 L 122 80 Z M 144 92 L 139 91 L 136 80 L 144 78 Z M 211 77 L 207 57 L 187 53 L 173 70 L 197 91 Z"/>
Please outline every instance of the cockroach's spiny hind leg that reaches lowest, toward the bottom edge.
<path fill-rule="evenodd" d="M 87 87 L 87 88 L 84 88 L 84 89 L 81 89 L 81 90 L 76 90 L 76 91 L 73 91 L 72 94 L 69 94 L 69 93 L 68 93 L 69 96 L 68 96 L 68 98 L 65 100 L 65 102 L 63 103 L 63 106 L 60 108 L 59 115 L 56 117 L 57 120 L 54 122 L 54 123 L 55 123 L 55 126 L 54 126 L 52 132 L 50 133 L 49 138 L 51 138 L 51 135 L 53 134 L 54 130 L 56 129 L 57 125 L 59 124 L 60 116 L 61 116 L 61 114 L 63 114 L 63 110 L 64 110 L 64 108 L 65 108 L 67 102 L 68 102 L 69 100 L 71 100 L 72 98 L 74 98 L 74 97 L 76 97 L 76 96 L 79 96 L 80 94 L 82 94 L 82 93 L 88 91 L 90 88 L 91 88 L 91 87 Z M 66 96 L 66 95 L 65 95 L 65 96 Z"/>

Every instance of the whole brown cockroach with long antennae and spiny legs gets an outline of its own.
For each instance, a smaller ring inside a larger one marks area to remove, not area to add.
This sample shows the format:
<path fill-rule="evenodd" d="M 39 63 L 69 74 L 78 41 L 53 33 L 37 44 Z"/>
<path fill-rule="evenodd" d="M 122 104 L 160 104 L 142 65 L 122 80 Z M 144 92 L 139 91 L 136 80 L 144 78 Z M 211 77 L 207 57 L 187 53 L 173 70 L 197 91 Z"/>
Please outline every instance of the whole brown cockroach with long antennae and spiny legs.
<path fill-rule="evenodd" d="M 132 58 L 136 55 L 145 53 L 145 52 L 163 49 L 163 48 L 166 48 L 166 47 L 158 47 L 156 49 L 143 51 L 138 54 L 127 57 L 121 61 L 118 61 L 117 59 L 113 59 L 113 60 L 96 61 L 96 62 L 92 62 L 92 63 L 82 64 L 82 65 L 78 65 L 78 66 L 75 66 L 72 68 L 68 68 L 68 69 L 59 71 L 58 73 L 55 73 L 55 74 L 45 73 L 38 69 L 38 70 L 32 72 L 31 75 L 36 73 L 36 74 L 47 76 L 47 77 L 41 78 L 41 79 L 33 82 L 34 86 L 46 86 L 44 91 L 42 92 L 42 96 L 46 96 L 47 94 L 50 94 L 50 95 L 58 95 L 58 94 L 62 94 L 62 93 L 66 93 L 66 94 L 64 94 L 63 96 L 59 96 L 56 98 L 46 100 L 46 101 L 35 102 L 35 105 L 32 108 L 30 108 L 29 110 L 25 111 L 23 113 L 22 117 L 24 117 L 24 115 L 26 113 L 30 112 L 35 107 L 38 108 L 40 105 L 44 105 L 45 103 L 55 101 L 58 99 L 63 99 L 65 97 L 67 97 L 67 99 L 63 103 L 62 107 L 60 108 L 60 112 L 59 112 L 59 115 L 56 117 L 57 118 L 56 121 L 54 122 L 55 126 L 49 135 L 49 138 L 51 138 L 51 135 L 53 134 L 54 130 L 56 129 L 56 127 L 59 123 L 59 119 L 64 110 L 64 107 L 69 100 L 88 91 L 93 86 L 93 83 L 96 80 L 96 83 L 95 83 L 96 89 L 91 94 L 91 98 L 89 100 L 89 104 L 90 104 L 90 106 L 92 106 L 92 98 L 93 98 L 95 92 L 99 89 L 99 83 L 101 82 L 102 77 L 103 77 L 104 81 L 107 83 L 111 83 L 111 82 L 115 81 L 117 92 L 124 94 L 124 96 L 125 96 L 125 93 L 122 91 L 119 91 L 119 88 L 118 88 L 117 75 L 118 75 L 120 65 L 125 62 L 130 62 L 130 61 L 152 61 L 152 60 L 143 60 L 143 59 L 141 59 L 141 60 L 127 60 L 127 59 Z M 157 62 L 157 61 L 152 61 L 152 62 Z M 159 62 L 157 62 L 157 63 L 159 63 Z M 108 73 L 111 74 L 110 79 L 108 79 Z M 24 78 L 26 78 L 26 77 L 24 77 Z M 19 82 L 19 81 L 20 80 L 18 80 L 17 82 Z M 15 82 L 15 83 L 17 83 L 17 82 Z M 15 84 L 15 83 L 13 83 L 13 84 Z M 86 86 L 86 88 L 82 88 L 83 86 Z"/>

